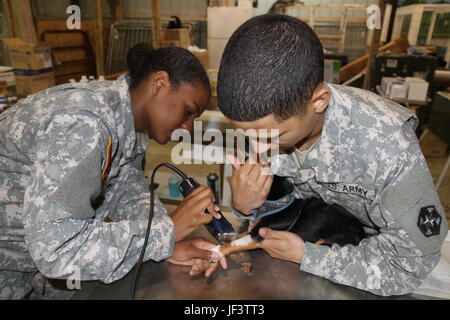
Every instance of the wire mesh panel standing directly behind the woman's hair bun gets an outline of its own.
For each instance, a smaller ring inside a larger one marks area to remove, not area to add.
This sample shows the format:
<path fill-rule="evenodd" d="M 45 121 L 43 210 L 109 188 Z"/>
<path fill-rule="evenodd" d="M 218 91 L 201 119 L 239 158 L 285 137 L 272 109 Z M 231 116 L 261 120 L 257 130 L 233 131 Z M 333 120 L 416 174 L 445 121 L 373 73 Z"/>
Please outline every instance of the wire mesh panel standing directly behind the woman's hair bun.
<path fill-rule="evenodd" d="M 123 20 L 111 26 L 106 73 L 115 74 L 127 70 L 127 52 L 141 42 L 152 42 L 151 21 Z"/>

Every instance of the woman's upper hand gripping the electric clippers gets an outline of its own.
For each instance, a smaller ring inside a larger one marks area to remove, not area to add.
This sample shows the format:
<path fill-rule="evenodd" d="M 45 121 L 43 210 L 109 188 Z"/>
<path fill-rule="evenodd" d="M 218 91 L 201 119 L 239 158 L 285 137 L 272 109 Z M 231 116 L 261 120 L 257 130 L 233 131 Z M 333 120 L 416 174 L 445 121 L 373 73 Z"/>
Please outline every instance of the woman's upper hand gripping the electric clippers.
<path fill-rule="evenodd" d="M 206 209 L 210 214 L 205 213 Z M 220 218 L 219 210 L 214 204 L 214 195 L 210 188 L 200 186 L 192 191 L 170 216 L 175 225 L 176 241 L 184 239 L 198 226 Z"/>

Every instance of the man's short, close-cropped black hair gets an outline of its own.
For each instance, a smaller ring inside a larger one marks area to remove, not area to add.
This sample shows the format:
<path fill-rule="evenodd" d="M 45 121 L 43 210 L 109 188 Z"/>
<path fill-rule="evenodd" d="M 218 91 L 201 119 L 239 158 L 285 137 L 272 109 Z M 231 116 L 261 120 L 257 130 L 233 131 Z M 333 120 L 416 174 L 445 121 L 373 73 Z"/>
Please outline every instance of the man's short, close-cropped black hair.
<path fill-rule="evenodd" d="M 217 99 L 235 121 L 305 110 L 323 82 L 323 48 L 303 21 L 279 14 L 254 17 L 231 36 L 220 63 Z"/>

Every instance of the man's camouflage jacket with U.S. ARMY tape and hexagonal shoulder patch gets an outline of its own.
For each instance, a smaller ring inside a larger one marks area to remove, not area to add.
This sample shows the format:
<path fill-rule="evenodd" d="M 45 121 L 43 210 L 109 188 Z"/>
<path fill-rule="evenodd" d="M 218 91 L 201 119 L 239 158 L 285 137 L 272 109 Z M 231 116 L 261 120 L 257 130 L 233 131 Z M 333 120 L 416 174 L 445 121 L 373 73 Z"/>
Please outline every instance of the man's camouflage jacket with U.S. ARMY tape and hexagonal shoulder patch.
<path fill-rule="evenodd" d="M 344 207 L 371 236 L 358 246 L 306 243 L 300 268 L 377 295 L 410 293 L 438 263 L 448 232 L 417 117 L 369 91 L 326 87 L 321 137 L 303 167 L 288 153 L 272 157 L 271 170 L 295 184 L 297 198 Z"/>

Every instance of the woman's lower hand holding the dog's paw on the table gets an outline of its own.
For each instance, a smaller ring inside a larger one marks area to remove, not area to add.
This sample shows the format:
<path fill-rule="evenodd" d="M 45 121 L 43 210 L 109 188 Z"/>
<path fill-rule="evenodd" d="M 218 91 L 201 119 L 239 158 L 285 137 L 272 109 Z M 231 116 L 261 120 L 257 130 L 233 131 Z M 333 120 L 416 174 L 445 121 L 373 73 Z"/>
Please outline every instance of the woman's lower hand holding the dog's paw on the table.
<path fill-rule="evenodd" d="M 192 266 L 189 272 L 191 276 L 204 272 L 205 276 L 209 277 L 217 270 L 219 263 L 223 269 L 227 268 L 225 258 L 222 257 L 217 262 L 220 258 L 219 254 L 209 250 L 214 246 L 216 244 L 203 238 L 183 240 L 175 244 L 172 256 L 167 261 L 173 264 Z"/>

